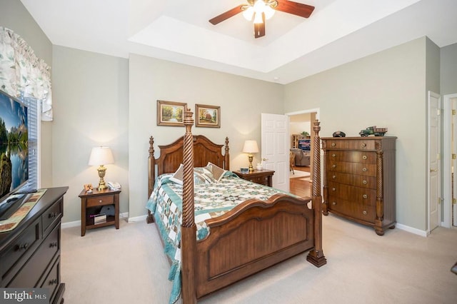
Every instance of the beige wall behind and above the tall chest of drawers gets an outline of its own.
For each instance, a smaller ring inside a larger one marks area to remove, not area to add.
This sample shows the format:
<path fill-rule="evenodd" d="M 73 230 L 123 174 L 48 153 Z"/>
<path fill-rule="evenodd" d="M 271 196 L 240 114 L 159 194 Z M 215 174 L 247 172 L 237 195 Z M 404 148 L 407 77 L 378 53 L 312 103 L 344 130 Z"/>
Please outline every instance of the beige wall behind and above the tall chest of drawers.
<path fill-rule="evenodd" d="M 320 108 L 321 136 L 367 126 L 397 136 L 397 221 L 426 230 L 426 45 L 421 38 L 285 88 L 287 112 Z"/>

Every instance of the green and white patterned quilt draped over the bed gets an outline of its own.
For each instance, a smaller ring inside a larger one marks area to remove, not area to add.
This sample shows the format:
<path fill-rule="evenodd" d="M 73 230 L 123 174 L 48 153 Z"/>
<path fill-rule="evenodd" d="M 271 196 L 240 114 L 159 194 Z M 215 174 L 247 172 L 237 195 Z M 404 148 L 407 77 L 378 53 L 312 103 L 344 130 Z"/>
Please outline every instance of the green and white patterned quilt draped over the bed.
<path fill-rule="evenodd" d="M 181 293 L 180 243 L 183 188 L 178 183 L 170 181 L 172 176 L 173 174 L 167 173 L 157 178 L 154 190 L 146 204 L 146 208 L 154 214 L 164 240 L 164 251 L 172 261 L 169 280 L 173 281 L 173 289 L 169 303 L 175 303 Z M 206 219 L 221 216 L 248 198 L 264 201 L 276 193 L 283 192 L 245 181 L 231 171 L 227 171 L 219 182 L 194 185 L 194 193 L 196 238 L 201 240 L 210 233 L 206 226 Z"/>

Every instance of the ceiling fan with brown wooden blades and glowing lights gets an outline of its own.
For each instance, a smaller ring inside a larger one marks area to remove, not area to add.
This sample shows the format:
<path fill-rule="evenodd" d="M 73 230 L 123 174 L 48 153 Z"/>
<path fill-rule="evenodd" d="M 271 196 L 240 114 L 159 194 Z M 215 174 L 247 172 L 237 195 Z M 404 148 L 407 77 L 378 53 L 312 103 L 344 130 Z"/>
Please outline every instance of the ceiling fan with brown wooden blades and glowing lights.
<path fill-rule="evenodd" d="M 210 19 L 211 24 L 219 24 L 238 13 L 243 12 L 244 18 L 249 21 L 253 20 L 254 37 L 265 36 L 265 20 L 273 16 L 274 11 L 283 11 L 284 13 L 308 18 L 314 10 L 314 6 L 301 4 L 288 0 L 247 0 L 248 4 L 241 4 L 219 16 Z"/>

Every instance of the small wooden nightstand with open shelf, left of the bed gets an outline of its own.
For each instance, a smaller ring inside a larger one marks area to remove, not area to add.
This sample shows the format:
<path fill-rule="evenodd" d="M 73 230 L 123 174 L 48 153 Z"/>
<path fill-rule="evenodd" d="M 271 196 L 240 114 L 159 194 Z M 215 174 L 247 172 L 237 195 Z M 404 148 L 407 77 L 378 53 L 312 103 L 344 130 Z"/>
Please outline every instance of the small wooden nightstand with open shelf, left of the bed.
<path fill-rule="evenodd" d="M 81 236 L 86 234 L 86 229 L 100 228 L 115 225 L 119 229 L 119 193 L 121 190 L 105 189 L 98 191 L 94 189 L 92 193 L 85 190 L 79 193 L 81 198 Z M 114 205 L 114 216 L 106 216 L 106 223 L 94 225 L 94 214 L 100 213 L 103 206 Z"/>

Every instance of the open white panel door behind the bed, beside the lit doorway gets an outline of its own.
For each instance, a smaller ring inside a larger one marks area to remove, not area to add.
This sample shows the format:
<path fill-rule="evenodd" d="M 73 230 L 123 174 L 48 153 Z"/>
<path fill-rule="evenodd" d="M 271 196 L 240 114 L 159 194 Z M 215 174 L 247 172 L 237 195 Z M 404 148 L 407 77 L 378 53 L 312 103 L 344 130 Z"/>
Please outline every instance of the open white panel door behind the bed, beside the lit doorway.
<path fill-rule="evenodd" d="M 263 168 L 273 170 L 273 187 L 288 192 L 288 116 L 261 114 Z"/>

